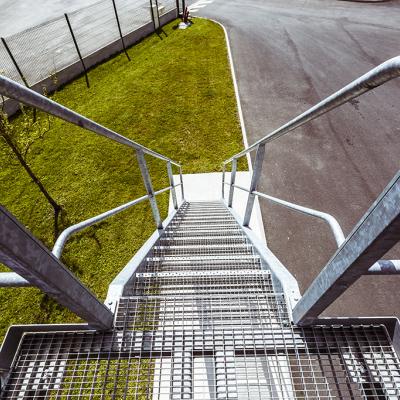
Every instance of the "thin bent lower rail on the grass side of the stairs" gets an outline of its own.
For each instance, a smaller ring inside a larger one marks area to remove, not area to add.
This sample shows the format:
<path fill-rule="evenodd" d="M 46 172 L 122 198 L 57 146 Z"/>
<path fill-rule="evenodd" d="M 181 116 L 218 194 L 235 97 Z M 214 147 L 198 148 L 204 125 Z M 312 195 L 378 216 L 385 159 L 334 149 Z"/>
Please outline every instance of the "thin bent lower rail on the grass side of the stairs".
<path fill-rule="evenodd" d="M 174 187 L 178 187 L 180 185 L 181 184 L 178 183 Z M 164 189 L 160 189 L 160 190 L 154 192 L 154 196 L 157 196 L 158 194 L 164 193 L 164 192 L 166 192 L 167 190 L 170 190 L 170 189 L 172 189 L 172 186 L 168 186 L 168 187 L 166 187 Z M 103 212 L 103 213 L 101 213 L 99 215 L 96 215 L 96 216 L 92 217 L 92 218 L 88 218 L 88 219 L 86 219 L 84 221 L 78 222 L 75 225 L 69 226 L 68 228 L 64 229 L 61 232 L 61 234 L 57 238 L 57 240 L 56 240 L 56 242 L 55 242 L 55 244 L 53 246 L 53 250 L 51 252 L 57 258 L 60 258 L 61 254 L 62 254 L 62 252 L 64 250 L 64 247 L 65 247 L 65 244 L 66 244 L 67 240 L 74 233 L 78 233 L 81 230 L 83 230 L 85 228 L 88 228 L 89 226 L 92 226 L 94 224 L 97 224 L 98 222 L 104 221 L 105 219 L 107 219 L 109 217 L 112 217 L 113 215 L 116 215 L 116 214 L 120 213 L 121 211 L 124 211 L 124 210 L 126 210 L 126 209 L 128 209 L 128 208 L 130 208 L 130 207 L 132 207 L 132 206 L 134 206 L 136 204 L 141 203 L 144 200 L 149 199 L 149 197 L 150 196 L 147 194 L 147 195 L 139 197 L 139 198 L 137 198 L 135 200 L 131 200 L 128 203 L 125 203 L 125 204 L 122 204 L 122 205 L 120 205 L 118 207 L 115 207 L 115 208 L 113 208 L 111 210 L 105 211 L 105 212 Z"/>

